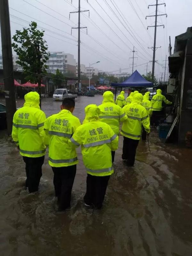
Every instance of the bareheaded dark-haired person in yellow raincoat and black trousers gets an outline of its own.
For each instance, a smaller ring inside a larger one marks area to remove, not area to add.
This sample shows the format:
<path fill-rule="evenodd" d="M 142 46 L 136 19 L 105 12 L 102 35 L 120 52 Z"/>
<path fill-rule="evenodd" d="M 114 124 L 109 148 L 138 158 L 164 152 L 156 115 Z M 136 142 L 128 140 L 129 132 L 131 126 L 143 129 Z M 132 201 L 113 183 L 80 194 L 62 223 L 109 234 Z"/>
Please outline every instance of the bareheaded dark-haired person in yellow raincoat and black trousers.
<path fill-rule="evenodd" d="M 61 111 L 49 116 L 44 124 L 45 144 L 49 145 L 49 164 L 54 173 L 53 184 L 59 212 L 70 207 L 78 160 L 76 149 L 68 144 L 68 140 L 81 125 L 79 119 L 72 115 L 75 109 L 73 99 L 64 99 L 60 108 Z"/>

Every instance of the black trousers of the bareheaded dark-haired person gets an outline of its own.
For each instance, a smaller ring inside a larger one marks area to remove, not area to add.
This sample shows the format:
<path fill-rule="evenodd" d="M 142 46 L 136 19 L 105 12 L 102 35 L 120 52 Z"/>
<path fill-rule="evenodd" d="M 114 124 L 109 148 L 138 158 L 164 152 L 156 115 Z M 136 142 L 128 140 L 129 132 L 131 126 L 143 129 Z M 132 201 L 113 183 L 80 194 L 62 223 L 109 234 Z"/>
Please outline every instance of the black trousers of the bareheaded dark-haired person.
<path fill-rule="evenodd" d="M 59 211 L 70 207 L 71 191 L 76 175 L 76 164 L 67 167 L 52 167 L 55 196 L 58 198 Z"/>

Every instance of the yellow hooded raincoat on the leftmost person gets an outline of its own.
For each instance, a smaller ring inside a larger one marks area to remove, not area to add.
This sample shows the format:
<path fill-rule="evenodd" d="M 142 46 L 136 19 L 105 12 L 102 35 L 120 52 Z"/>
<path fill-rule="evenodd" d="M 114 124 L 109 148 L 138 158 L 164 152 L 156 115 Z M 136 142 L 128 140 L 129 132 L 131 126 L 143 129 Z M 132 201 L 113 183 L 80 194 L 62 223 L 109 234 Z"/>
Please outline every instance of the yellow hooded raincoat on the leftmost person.
<path fill-rule="evenodd" d="M 39 94 L 25 95 L 24 106 L 13 116 L 12 139 L 20 148 L 21 156 L 40 157 L 45 155 L 44 121 L 45 113 L 39 107 Z"/>

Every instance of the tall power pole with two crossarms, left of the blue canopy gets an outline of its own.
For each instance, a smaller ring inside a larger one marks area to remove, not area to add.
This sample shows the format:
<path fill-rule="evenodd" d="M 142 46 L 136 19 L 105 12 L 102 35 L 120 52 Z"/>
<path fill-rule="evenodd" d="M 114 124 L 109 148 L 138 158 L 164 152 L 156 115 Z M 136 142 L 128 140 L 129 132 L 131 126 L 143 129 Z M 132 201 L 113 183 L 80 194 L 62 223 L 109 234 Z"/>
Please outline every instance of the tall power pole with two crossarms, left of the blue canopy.
<path fill-rule="evenodd" d="M 72 29 L 78 29 L 78 68 L 77 68 L 77 72 L 78 72 L 78 91 L 80 90 L 80 83 L 81 83 L 81 77 L 80 77 L 80 75 L 81 75 L 81 69 L 80 69 L 80 43 L 81 43 L 81 41 L 80 41 L 80 29 L 81 28 L 86 28 L 87 29 L 87 27 L 80 27 L 80 13 L 81 12 L 89 12 L 89 10 L 83 10 L 83 11 L 81 11 L 81 3 L 80 3 L 81 1 L 79 0 L 79 8 L 78 8 L 78 11 L 75 11 L 75 12 L 69 12 L 69 20 L 70 20 L 70 14 L 71 13 L 78 13 L 78 27 L 73 27 L 73 28 L 71 28 L 71 35 L 72 35 Z M 72 0 L 71 0 L 71 4 L 72 4 Z"/>

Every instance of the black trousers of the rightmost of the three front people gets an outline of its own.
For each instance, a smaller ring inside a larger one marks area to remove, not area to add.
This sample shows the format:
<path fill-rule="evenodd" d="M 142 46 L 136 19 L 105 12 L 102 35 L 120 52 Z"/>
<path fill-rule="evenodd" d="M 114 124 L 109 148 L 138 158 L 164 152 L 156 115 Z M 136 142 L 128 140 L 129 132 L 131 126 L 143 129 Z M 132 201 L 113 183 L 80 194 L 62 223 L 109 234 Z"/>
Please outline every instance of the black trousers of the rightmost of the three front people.
<path fill-rule="evenodd" d="M 93 204 L 97 209 L 102 207 L 109 178 L 110 175 L 92 176 L 87 174 L 87 189 L 84 196 L 85 204 Z"/>

